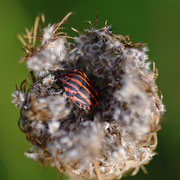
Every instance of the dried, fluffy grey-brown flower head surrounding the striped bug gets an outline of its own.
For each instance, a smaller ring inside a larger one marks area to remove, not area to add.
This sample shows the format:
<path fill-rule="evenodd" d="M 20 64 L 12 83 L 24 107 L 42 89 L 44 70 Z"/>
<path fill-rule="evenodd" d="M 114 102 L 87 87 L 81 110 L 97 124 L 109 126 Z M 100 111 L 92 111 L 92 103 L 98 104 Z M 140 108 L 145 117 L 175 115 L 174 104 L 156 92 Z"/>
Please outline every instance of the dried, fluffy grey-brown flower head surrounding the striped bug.
<path fill-rule="evenodd" d="M 119 179 L 145 171 L 165 111 L 147 47 L 113 34 L 107 23 L 83 32 L 72 28 L 78 35 L 70 37 L 62 28 L 70 15 L 47 27 L 44 16 L 42 26 L 37 17 L 18 35 L 30 72 L 12 95 L 19 126 L 33 145 L 25 155 L 70 177 Z M 74 68 L 83 69 L 99 94 L 89 111 L 66 96 L 55 76 Z"/>

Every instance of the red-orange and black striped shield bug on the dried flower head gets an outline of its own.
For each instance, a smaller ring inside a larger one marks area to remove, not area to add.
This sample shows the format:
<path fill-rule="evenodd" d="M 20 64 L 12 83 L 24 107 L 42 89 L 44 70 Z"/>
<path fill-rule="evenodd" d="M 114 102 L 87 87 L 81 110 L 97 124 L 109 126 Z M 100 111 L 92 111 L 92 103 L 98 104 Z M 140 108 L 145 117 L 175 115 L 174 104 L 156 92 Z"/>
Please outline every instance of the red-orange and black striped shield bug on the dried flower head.
<path fill-rule="evenodd" d="M 91 81 L 81 69 L 67 73 L 56 71 L 56 78 L 62 82 L 67 97 L 81 109 L 90 110 L 98 104 L 98 93 Z"/>

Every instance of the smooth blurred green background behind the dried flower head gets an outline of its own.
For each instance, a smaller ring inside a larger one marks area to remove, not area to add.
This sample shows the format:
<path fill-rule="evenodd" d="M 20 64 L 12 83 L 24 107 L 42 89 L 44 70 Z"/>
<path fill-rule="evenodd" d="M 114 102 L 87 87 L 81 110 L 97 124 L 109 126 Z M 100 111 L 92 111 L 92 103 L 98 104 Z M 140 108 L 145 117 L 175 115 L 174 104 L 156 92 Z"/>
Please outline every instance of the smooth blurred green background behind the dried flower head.
<path fill-rule="evenodd" d="M 99 27 L 107 19 L 115 33 L 148 43 L 167 112 L 159 132 L 158 155 L 146 166 L 148 174 L 140 171 L 124 179 L 180 179 L 180 0 L 0 0 L 0 180 L 63 179 L 55 169 L 24 156 L 31 145 L 18 129 L 19 109 L 11 103 L 11 93 L 27 75 L 26 65 L 18 64 L 23 51 L 17 33 L 30 28 L 36 15 L 45 13 L 48 24 L 69 11 L 74 12 L 69 27 L 82 31 L 98 12 Z"/>

